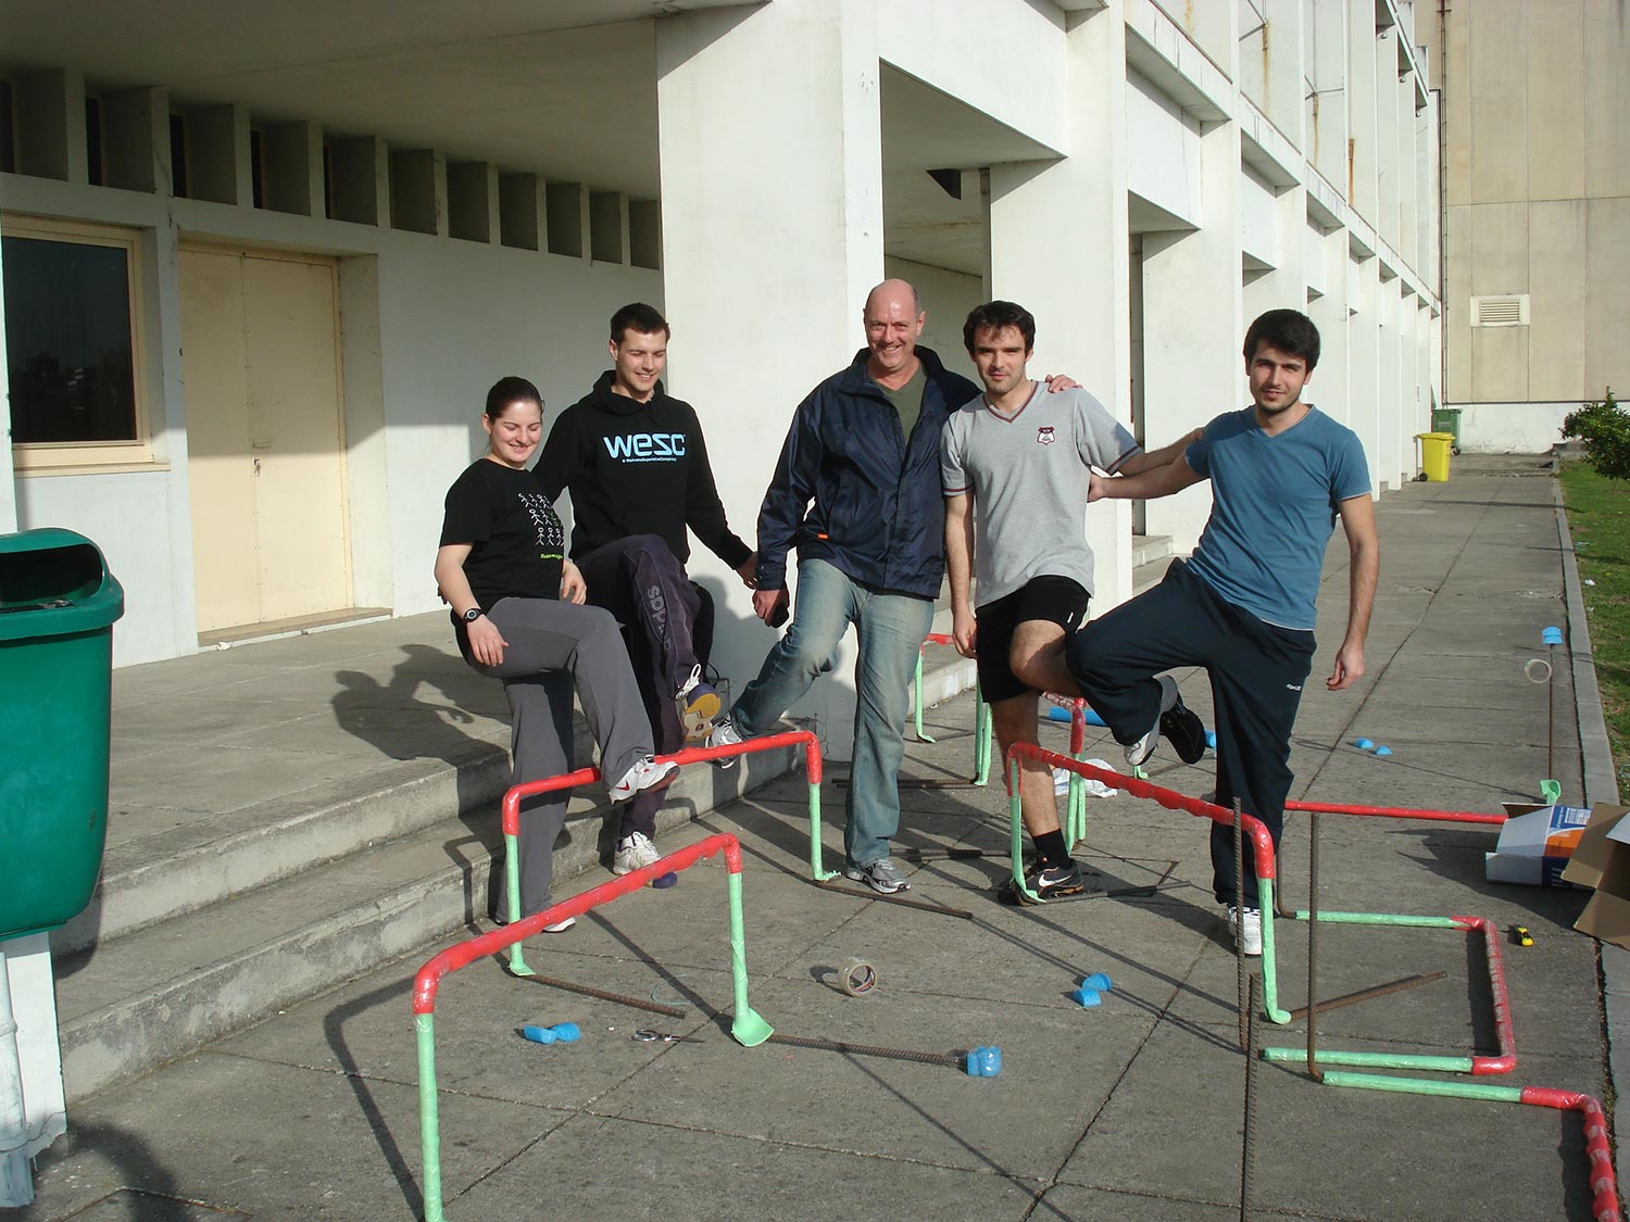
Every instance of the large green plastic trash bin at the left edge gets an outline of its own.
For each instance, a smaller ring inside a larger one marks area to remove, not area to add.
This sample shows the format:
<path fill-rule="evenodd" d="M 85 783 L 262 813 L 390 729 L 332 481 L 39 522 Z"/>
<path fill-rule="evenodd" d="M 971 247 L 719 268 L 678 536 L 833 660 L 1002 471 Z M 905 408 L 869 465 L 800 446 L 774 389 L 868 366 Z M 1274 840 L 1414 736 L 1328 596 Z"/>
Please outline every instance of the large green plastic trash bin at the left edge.
<path fill-rule="evenodd" d="M 0 534 L 0 940 L 70 921 L 96 886 L 122 614 L 83 534 Z"/>

